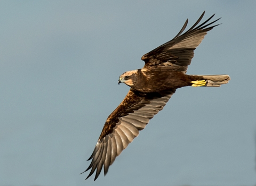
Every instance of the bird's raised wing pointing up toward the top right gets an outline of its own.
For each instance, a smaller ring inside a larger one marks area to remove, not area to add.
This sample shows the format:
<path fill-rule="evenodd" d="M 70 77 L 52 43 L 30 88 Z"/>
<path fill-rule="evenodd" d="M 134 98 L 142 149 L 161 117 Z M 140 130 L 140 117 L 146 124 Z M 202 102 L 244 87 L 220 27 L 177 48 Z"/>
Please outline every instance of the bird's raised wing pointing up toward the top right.
<path fill-rule="evenodd" d="M 145 61 L 145 66 L 143 69 L 153 66 L 173 66 L 174 69 L 186 73 L 188 65 L 191 63 L 191 60 L 194 57 L 194 50 L 196 47 L 204 39 L 207 31 L 219 25 L 217 24 L 215 26 L 207 27 L 220 19 L 219 18 L 211 23 L 207 23 L 215 15 L 213 14 L 209 19 L 197 26 L 197 24 L 202 20 L 204 13 L 205 12 L 203 12 L 197 22 L 188 31 L 181 35 L 181 33 L 187 27 L 187 19 L 177 36 L 167 43 L 155 48 L 151 52 L 143 55 L 141 57 L 141 60 Z"/>

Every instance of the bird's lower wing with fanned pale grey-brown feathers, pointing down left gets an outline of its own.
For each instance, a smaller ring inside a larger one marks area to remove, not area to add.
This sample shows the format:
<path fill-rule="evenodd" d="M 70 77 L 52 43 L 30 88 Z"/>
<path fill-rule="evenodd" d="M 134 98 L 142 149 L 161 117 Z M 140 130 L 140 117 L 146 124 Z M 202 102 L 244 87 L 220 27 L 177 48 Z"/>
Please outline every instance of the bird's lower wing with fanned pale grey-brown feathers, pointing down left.
<path fill-rule="evenodd" d="M 88 159 L 92 159 L 92 162 L 86 171 L 90 168 L 92 170 L 87 178 L 97 168 L 95 181 L 103 165 L 106 175 L 115 158 L 139 135 L 139 130 L 144 129 L 149 120 L 163 109 L 174 92 L 175 90 L 167 90 L 143 94 L 130 89 L 123 102 L 108 116 L 94 151 Z"/>

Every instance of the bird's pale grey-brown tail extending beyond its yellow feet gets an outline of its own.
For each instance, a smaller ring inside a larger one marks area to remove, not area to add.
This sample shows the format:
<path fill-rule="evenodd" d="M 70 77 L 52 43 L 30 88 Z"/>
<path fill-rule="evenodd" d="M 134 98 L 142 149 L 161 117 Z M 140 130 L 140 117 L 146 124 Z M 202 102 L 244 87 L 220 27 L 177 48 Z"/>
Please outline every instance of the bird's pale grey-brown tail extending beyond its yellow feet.
<path fill-rule="evenodd" d="M 206 87 L 220 87 L 230 80 L 229 75 L 200 75 L 207 80 Z"/>

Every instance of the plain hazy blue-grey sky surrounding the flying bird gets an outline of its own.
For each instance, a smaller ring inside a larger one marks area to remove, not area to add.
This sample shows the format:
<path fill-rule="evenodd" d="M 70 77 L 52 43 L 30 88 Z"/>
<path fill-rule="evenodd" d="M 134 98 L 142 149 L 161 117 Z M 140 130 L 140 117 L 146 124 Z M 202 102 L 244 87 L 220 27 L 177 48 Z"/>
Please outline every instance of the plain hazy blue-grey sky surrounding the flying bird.
<path fill-rule="evenodd" d="M 107 2 L 107 3 L 106 3 Z M 93 182 L 83 172 L 141 56 L 216 13 L 178 89 Z M 0 185 L 255 185 L 256 1 L 1 1 Z"/>

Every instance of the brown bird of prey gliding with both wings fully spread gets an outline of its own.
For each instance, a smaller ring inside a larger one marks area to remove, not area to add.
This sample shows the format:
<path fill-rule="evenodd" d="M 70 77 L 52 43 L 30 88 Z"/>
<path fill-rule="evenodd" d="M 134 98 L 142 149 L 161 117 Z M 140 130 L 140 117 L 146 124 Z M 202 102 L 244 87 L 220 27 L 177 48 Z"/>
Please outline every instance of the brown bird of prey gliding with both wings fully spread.
<path fill-rule="evenodd" d="M 207 31 L 218 26 L 212 24 L 219 19 L 209 23 L 214 14 L 198 26 L 204 13 L 188 31 L 182 34 L 188 23 L 187 19 L 177 36 L 143 55 L 141 60 L 145 65 L 142 69 L 120 75 L 118 84 L 125 83 L 131 89 L 103 126 L 99 140 L 88 159 L 92 161 L 86 170 L 91 169 L 87 178 L 97 170 L 95 181 L 103 165 L 106 175 L 116 157 L 139 135 L 139 131 L 146 127 L 149 120 L 163 109 L 176 89 L 186 86 L 220 87 L 221 84 L 228 83 L 229 75 L 186 74 L 194 50 Z"/>

